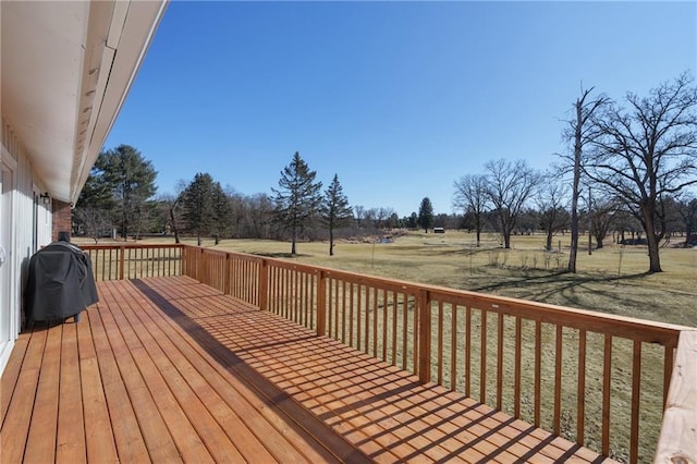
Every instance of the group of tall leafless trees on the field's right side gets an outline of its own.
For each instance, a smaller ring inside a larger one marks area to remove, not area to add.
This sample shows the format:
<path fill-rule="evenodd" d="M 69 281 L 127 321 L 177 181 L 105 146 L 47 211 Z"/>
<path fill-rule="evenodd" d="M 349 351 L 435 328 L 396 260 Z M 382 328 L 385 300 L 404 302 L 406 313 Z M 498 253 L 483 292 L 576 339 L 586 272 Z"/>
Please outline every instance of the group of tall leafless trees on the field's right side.
<path fill-rule="evenodd" d="M 529 198 L 537 197 L 549 247 L 553 231 L 565 228 L 562 219 L 568 200 L 567 270 L 575 272 L 579 200 L 585 194 L 589 217 L 594 208 L 608 211 L 596 215 L 596 240 L 603 229 L 599 218 L 632 218 L 646 239 L 649 272 L 660 272 L 660 246 L 676 217 L 683 218 L 687 236 L 694 231 L 695 200 L 688 191 L 697 184 L 694 78 L 684 73 L 647 96 L 627 93 L 620 101 L 592 93 L 594 88 L 582 87 L 572 106 L 573 117 L 562 132 L 571 149 L 560 155 L 554 170 L 541 175 L 524 161 L 490 161 L 485 174 L 455 182 L 454 204 L 469 211 L 475 223 L 481 212 L 497 211 L 508 248 L 518 215 Z M 594 224 L 588 229 L 594 230 Z"/>

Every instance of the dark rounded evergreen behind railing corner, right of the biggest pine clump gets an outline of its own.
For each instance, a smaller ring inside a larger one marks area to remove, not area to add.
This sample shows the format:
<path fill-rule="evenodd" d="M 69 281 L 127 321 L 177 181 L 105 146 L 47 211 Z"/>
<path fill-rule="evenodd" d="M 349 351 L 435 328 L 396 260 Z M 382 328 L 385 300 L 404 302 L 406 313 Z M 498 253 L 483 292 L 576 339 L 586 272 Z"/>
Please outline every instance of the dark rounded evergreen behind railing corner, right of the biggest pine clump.
<path fill-rule="evenodd" d="M 200 246 L 201 236 L 210 233 L 215 222 L 212 178 L 197 173 L 182 195 L 185 228 L 196 234 Z"/>

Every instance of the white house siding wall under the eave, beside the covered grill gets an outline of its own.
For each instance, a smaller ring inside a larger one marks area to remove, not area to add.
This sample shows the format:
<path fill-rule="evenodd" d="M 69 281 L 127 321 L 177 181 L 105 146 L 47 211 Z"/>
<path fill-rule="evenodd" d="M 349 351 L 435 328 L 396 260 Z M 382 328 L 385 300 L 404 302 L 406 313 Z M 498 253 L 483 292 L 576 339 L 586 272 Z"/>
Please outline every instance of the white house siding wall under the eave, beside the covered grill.
<path fill-rule="evenodd" d="M 36 178 L 28 154 L 12 129 L 2 123 L 0 163 L 9 184 L 2 188 L 0 227 L 4 227 L 2 246 L 7 262 L 0 273 L 0 373 L 4 369 L 12 345 L 22 325 L 23 291 L 29 258 L 41 246 L 51 242 L 50 205 L 45 206 L 39 194 L 42 183 Z"/>

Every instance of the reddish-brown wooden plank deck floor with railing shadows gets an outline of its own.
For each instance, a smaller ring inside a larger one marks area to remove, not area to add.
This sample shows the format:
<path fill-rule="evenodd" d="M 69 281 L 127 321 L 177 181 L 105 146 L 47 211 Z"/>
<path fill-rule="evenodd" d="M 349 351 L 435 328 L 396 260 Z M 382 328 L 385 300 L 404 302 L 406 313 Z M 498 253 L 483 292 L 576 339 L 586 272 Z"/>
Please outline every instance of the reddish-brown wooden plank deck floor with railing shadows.
<path fill-rule="evenodd" d="M 602 461 L 193 279 L 98 286 L 21 334 L 2 463 Z"/>

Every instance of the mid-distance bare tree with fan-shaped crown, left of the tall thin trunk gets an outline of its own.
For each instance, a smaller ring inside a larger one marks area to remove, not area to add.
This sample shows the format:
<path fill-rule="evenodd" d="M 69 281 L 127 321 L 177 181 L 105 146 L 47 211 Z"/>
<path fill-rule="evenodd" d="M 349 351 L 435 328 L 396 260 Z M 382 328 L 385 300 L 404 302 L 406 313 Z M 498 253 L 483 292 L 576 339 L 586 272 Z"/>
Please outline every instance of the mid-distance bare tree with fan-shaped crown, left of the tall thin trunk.
<path fill-rule="evenodd" d="M 511 247 L 511 233 L 526 202 L 535 193 L 540 175 L 524 160 L 488 161 L 485 169 L 487 170 L 487 196 L 499 218 L 503 244 L 508 249 Z"/>

